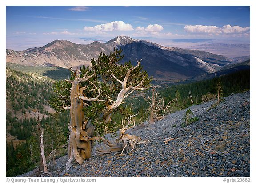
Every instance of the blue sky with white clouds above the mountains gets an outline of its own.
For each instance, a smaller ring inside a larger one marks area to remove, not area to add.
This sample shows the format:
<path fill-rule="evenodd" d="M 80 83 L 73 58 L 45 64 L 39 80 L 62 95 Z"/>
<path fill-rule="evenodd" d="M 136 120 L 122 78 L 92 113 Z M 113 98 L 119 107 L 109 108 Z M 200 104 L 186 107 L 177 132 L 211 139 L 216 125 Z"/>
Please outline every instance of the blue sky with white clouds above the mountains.
<path fill-rule="evenodd" d="M 103 43 L 118 35 L 174 46 L 195 39 L 200 42 L 250 43 L 250 7 L 6 7 L 8 49 L 21 51 L 41 47 L 56 39 L 80 44 L 94 40 Z"/>

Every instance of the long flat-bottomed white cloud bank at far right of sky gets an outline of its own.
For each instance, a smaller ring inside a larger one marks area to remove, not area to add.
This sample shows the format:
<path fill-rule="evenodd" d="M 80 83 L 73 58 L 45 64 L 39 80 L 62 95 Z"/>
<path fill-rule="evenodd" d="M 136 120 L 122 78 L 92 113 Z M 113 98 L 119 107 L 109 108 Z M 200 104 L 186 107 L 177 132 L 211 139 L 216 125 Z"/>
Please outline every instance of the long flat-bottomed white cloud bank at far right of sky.
<path fill-rule="evenodd" d="M 250 31 L 250 27 L 240 27 L 224 25 L 223 27 L 206 25 L 186 25 L 184 30 L 188 33 L 207 33 L 207 34 L 236 34 Z"/>

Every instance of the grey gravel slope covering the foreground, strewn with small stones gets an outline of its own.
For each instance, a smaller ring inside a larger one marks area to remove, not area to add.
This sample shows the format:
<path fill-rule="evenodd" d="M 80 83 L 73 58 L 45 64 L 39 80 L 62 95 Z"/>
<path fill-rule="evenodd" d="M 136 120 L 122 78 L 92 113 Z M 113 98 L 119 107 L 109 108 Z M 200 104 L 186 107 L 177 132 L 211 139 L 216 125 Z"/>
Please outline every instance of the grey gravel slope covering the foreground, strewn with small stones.
<path fill-rule="evenodd" d="M 199 121 L 182 128 L 187 109 L 129 134 L 148 139 L 129 154 L 92 156 L 65 171 L 67 156 L 57 160 L 49 177 L 249 177 L 250 91 L 190 107 Z M 173 140 L 164 143 L 169 137 Z M 106 138 L 111 138 L 108 134 Z M 96 148 L 103 144 L 96 144 Z M 24 174 L 21 176 L 32 176 Z"/>

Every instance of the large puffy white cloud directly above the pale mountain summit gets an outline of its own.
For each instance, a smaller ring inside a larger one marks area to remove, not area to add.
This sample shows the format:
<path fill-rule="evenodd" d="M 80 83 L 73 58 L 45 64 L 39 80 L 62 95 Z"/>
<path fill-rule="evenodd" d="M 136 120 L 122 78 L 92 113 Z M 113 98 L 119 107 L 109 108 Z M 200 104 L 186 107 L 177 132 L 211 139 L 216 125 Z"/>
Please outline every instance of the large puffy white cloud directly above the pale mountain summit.
<path fill-rule="evenodd" d="M 94 27 L 84 27 L 85 31 L 132 31 L 132 25 L 123 21 L 108 22 Z"/>

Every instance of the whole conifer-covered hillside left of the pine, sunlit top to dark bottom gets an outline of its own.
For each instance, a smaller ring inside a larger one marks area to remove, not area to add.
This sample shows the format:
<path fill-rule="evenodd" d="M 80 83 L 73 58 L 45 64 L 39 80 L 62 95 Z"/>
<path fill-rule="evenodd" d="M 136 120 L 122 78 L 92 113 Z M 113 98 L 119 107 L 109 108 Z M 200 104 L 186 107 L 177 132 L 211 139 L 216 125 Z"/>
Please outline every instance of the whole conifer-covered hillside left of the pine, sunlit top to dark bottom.
<path fill-rule="evenodd" d="M 40 161 L 39 130 L 45 132 L 45 153 L 51 158 L 65 153 L 68 113 L 56 113 L 49 106 L 54 80 L 39 74 L 24 74 L 6 68 L 6 175 L 16 176 Z M 58 136 L 55 133 L 58 132 Z"/>

